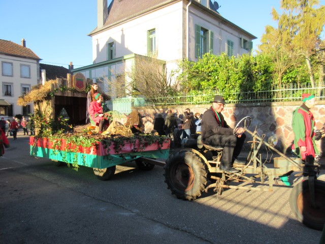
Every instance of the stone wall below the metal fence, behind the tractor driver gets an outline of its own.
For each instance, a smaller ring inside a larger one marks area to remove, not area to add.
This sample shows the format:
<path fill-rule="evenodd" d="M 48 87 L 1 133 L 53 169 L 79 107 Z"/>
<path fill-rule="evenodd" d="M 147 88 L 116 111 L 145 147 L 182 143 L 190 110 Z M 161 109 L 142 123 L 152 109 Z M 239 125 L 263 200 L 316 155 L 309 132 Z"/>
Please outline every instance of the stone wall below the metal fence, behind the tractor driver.
<path fill-rule="evenodd" d="M 299 107 L 302 102 L 277 102 L 277 103 L 252 103 L 252 104 L 226 104 L 223 110 L 223 116 L 226 122 L 234 128 L 238 121 L 250 116 L 252 123 L 248 128 L 250 131 L 256 130 L 259 136 L 265 134 L 266 138 L 276 134 L 278 137 L 278 145 L 276 148 L 283 153 L 290 151 L 290 147 L 294 140 L 294 134 L 291 130 L 291 118 L 293 111 Z M 171 109 L 177 116 L 182 119 L 184 110 L 189 108 L 191 112 L 204 113 L 210 105 L 187 105 L 178 107 L 133 107 L 142 115 L 145 125 L 145 132 L 150 133 L 153 129 L 153 120 L 158 113 L 166 117 L 168 109 Z M 316 129 L 320 129 L 325 125 L 325 101 L 317 101 L 316 106 L 311 110 L 316 121 Z M 247 135 L 248 136 L 248 135 Z M 247 141 L 251 139 L 247 137 Z M 249 146 L 249 144 L 245 143 Z M 318 149 L 325 155 L 325 138 L 317 141 Z"/>

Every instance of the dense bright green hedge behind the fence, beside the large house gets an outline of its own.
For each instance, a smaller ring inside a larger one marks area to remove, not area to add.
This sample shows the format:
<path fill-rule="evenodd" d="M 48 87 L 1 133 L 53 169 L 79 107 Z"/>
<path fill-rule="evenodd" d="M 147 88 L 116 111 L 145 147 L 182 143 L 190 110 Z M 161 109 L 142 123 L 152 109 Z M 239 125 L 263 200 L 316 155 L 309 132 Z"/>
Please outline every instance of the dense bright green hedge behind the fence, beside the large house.
<path fill-rule="evenodd" d="M 269 89 L 274 69 L 272 59 L 264 54 L 244 54 L 236 58 L 225 53 L 206 53 L 198 62 L 184 60 L 180 67 L 183 72 L 178 79 L 183 90 L 209 90 L 209 94 L 222 94 L 227 100 L 237 100 L 241 92 Z M 210 96 L 200 94 L 201 101 Z M 195 104 L 195 98 L 189 100 L 187 102 Z"/>

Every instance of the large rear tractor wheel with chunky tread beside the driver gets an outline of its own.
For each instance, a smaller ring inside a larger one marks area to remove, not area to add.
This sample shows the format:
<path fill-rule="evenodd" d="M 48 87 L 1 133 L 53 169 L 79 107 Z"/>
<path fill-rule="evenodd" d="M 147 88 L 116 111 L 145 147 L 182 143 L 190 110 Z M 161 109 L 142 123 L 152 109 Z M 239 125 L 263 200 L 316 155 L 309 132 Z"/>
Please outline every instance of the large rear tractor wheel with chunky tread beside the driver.
<path fill-rule="evenodd" d="M 207 185 L 207 169 L 192 151 L 178 151 L 169 156 L 165 165 L 165 182 L 177 198 L 194 200 Z"/>

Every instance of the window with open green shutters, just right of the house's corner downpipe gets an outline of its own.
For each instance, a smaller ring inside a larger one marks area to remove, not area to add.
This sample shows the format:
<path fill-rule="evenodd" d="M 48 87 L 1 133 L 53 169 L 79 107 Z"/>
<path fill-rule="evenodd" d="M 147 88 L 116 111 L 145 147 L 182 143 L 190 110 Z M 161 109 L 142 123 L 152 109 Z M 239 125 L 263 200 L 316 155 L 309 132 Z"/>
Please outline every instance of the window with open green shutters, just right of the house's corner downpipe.
<path fill-rule="evenodd" d="M 213 53 L 213 32 L 196 25 L 196 46 L 195 53 L 196 57 L 202 57 L 203 54 L 210 52 Z"/>

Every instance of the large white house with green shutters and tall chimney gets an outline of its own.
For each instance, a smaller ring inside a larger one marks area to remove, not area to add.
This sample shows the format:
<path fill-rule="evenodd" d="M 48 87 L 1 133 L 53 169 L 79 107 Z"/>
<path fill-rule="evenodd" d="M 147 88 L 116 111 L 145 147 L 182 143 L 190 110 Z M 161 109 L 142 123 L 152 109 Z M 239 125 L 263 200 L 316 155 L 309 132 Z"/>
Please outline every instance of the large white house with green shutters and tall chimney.
<path fill-rule="evenodd" d="M 122 63 L 132 64 L 135 54 L 163 60 L 167 71 L 188 58 L 206 52 L 228 55 L 249 53 L 255 36 L 223 18 L 211 0 L 98 0 L 98 25 L 92 38 L 93 64 L 74 69 L 98 82 L 118 73 Z M 124 68 L 122 68 L 124 69 Z"/>

